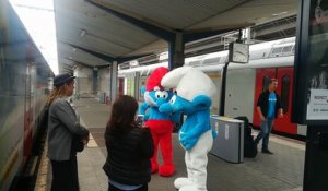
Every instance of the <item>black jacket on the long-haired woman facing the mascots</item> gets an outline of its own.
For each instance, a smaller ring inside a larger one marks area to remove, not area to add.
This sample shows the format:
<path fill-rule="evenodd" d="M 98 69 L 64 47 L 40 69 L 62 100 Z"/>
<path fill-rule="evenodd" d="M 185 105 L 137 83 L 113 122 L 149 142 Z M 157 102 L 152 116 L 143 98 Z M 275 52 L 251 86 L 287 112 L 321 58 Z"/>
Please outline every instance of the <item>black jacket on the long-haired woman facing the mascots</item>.
<path fill-rule="evenodd" d="M 105 141 L 108 155 L 103 169 L 110 180 L 130 186 L 151 180 L 153 140 L 148 128 L 134 128 L 124 134 L 107 128 Z"/>

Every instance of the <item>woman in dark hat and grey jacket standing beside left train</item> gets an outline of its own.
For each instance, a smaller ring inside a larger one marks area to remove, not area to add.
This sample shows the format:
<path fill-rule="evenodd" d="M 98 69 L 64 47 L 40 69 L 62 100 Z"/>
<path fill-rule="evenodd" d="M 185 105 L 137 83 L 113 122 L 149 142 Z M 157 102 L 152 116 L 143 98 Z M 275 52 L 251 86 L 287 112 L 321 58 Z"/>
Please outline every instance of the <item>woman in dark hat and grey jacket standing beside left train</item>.
<path fill-rule="evenodd" d="M 74 79 L 68 73 L 56 75 L 48 98 L 48 158 L 52 167 L 51 191 L 79 191 L 77 139 L 87 143 L 89 130 L 80 124 L 68 97 L 73 94 Z M 83 143 L 82 143 L 83 146 Z M 80 148 L 81 151 L 83 148 Z"/>

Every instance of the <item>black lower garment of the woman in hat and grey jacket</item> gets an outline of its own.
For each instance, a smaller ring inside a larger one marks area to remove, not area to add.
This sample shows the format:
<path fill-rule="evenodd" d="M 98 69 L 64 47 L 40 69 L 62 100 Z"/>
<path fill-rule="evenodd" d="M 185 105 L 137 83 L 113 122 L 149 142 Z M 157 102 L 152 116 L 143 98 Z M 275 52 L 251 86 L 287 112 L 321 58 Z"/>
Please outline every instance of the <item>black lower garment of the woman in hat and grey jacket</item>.
<path fill-rule="evenodd" d="M 51 191 L 79 191 L 77 156 L 69 160 L 51 160 L 52 183 Z"/>

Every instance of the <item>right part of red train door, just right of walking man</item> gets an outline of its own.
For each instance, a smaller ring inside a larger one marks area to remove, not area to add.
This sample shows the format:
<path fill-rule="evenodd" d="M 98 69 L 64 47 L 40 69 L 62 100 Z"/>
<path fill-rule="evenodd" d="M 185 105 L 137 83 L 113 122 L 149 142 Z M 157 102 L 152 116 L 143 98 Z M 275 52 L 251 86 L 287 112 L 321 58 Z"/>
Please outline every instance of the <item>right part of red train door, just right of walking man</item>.
<path fill-rule="evenodd" d="M 281 68 L 277 70 L 278 88 L 283 107 L 283 118 L 277 119 L 273 130 L 289 134 L 297 134 L 297 124 L 291 122 L 292 93 L 293 93 L 293 68 Z"/>

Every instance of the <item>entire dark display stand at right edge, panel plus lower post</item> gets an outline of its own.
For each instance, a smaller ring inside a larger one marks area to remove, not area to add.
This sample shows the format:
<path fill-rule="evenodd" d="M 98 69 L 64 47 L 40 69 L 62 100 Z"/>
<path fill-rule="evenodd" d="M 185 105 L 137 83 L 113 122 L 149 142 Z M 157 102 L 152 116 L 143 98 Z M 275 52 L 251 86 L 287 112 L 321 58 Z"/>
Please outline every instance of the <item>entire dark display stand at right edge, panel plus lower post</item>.
<path fill-rule="evenodd" d="M 328 190 L 328 87 L 320 79 L 328 72 L 328 32 L 324 12 L 328 1 L 300 0 L 297 11 L 292 122 L 307 124 L 304 191 Z"/>

